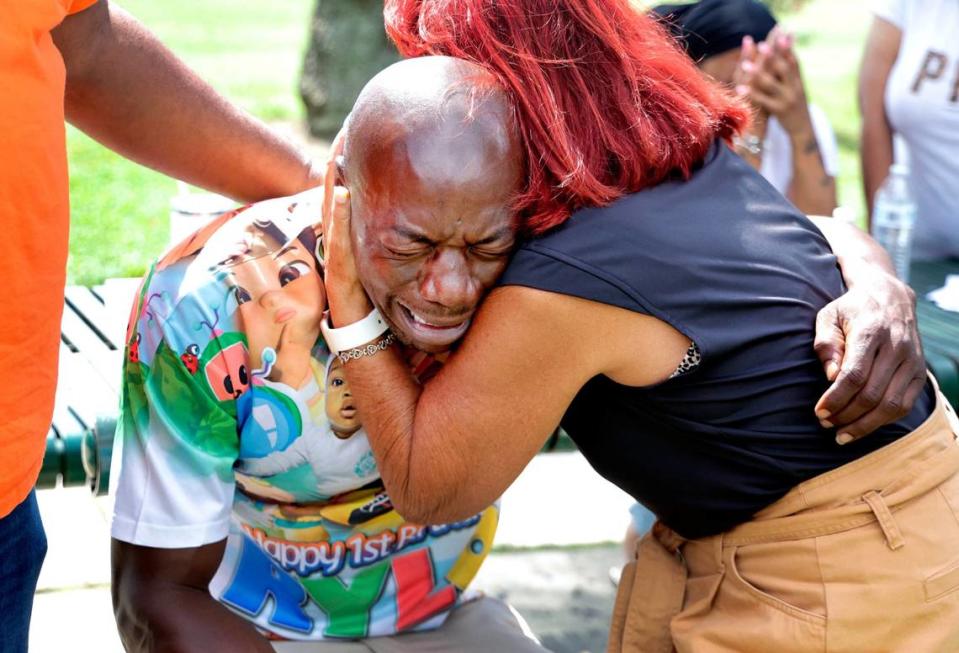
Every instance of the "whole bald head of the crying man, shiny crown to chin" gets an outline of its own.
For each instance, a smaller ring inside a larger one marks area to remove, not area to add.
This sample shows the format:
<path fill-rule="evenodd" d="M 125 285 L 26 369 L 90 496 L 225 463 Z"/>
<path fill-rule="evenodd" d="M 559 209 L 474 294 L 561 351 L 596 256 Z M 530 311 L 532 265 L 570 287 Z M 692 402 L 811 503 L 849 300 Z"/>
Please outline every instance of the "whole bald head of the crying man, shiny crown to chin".
<path fill-rule="evenodd" d="M 343 156 L 367 293 L 402 340 L 447 348 L 514 243 L 524 166 L 505 94 L 474 64 L 402 61 L 363 89 Z"/>

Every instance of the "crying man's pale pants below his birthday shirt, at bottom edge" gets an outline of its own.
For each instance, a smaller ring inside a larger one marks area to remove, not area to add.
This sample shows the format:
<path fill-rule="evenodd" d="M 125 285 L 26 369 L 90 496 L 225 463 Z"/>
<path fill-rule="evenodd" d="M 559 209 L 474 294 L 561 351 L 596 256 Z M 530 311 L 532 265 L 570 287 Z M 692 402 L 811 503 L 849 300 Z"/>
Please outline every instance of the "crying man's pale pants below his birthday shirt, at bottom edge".
<path fill-rule="evenodd" d="M 548 653 L 505 602 L 484 596 L 458 605 L 436 630 L 355 642 L 274 642 L 277 653 Z"/>

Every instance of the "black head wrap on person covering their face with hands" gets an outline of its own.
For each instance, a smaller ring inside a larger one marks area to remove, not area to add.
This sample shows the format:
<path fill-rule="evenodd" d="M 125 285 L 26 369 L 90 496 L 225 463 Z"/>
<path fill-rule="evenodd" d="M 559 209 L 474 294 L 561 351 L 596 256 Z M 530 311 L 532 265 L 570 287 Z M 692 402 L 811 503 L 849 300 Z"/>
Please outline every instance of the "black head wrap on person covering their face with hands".
<path fill-rule="evenodd" d="M 701 0 L 653 7 L 693 61 L 742 45 L 744 36 L 762 41 L 776 19 L 758 0 Z"/>

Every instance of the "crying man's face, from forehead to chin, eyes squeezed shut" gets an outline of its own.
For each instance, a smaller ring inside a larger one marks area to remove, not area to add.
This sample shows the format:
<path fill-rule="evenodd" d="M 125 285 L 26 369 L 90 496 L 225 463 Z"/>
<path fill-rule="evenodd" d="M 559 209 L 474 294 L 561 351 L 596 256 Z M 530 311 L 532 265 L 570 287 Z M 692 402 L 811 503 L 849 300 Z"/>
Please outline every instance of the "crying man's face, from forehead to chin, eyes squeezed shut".
<path fill-rule="evenodd" d="M 374 157 L 361 192 L 351 193 L 363 286 L 396 335 L 426 352 L 466 333 L 516 238 L 515 155 L 459 140 L 422 139 Z"/>

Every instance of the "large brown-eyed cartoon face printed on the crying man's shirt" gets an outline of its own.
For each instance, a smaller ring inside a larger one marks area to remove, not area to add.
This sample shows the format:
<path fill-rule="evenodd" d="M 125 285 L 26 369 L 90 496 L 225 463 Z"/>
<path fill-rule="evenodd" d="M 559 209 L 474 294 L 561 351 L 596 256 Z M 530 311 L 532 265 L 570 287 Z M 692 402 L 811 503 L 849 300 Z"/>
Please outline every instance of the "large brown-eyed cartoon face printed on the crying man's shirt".
<path fill-rule="evenodd" d="M 238 253 L 220 262 L 229 274 L 247 335 L 250 364 L 267 378 L 300 388 L 309 378 L 309 352 L 319 337 L 326 293 L 313 253 L 298 239 L 282 242 L 272 223 L 252 223 Z M 264 351 L 271 349 L 274 355 Z"/>

